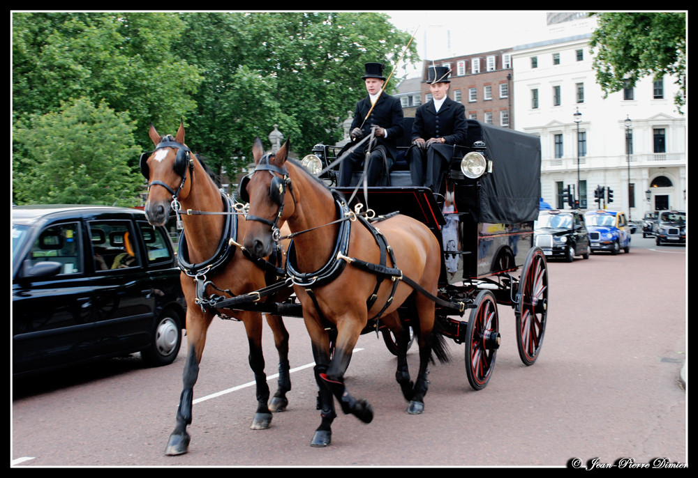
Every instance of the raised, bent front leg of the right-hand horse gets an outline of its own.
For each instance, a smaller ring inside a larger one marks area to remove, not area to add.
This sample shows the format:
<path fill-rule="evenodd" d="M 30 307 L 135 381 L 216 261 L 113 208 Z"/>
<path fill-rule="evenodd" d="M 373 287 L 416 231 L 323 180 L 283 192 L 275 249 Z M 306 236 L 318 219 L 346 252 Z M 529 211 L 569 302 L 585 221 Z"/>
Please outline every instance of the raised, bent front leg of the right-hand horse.
<path fill-rule="evenodd" d="M 347 324 L 347 325 L 344 325 Z M 329 387 L 345 414 L 351 413 L 364 423 L 373 420 L 373 408 L 364 399 L 355 399 L 344 385 L 344 373 L 349 367 L 352 350 L 359 339 L 361 329 L 355 321 L 340 321 L 337 325 L 337 345 L 327 373 L 320 379 Z"/>

